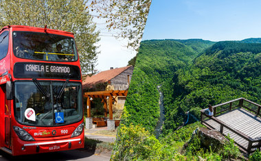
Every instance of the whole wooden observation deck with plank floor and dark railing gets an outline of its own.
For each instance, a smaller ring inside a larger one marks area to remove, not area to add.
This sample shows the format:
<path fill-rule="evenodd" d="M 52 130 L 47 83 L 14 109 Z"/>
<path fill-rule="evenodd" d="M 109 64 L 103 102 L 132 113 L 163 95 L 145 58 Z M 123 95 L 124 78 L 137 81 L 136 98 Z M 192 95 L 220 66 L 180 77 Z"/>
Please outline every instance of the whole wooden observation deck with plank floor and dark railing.
<path fill-rule="evenodd" d="M 201 110 L 201 123 L 209 129 L 229 134 L 247 153 L 261 147 L 261 106 L 244 98 L 234 99 L 213 106 L 214 116 Z"/>

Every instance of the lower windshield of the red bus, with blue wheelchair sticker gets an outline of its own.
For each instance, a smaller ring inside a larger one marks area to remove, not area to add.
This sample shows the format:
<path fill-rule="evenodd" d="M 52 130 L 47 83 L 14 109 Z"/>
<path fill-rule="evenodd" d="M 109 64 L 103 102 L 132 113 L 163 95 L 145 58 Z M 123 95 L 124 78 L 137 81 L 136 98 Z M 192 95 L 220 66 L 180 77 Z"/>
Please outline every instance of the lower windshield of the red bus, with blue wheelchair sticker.
<path fill-rule="evenodd" d="M 15 82 L 15 117 L 23 125 L 56 126 L 82 119 L 82 88 L 76 82 Z M 45 92 L 43 92 L 45 90 Z"/>

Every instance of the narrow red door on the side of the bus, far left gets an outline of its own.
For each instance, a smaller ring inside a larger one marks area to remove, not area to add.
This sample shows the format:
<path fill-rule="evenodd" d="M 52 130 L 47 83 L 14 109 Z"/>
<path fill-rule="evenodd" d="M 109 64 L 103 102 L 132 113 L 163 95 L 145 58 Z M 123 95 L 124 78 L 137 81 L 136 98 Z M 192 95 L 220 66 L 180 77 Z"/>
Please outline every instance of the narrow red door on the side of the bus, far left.
<path fill-rule="evenodd" d="M 6 99 L 6 95 L 5 95 L 5 86 L 3 86 L 3 93 L 4 93 L 4 97 L 5 97 L 5 101 L 4 101 L 4 108 L 5 108 L 5 113 L 4 113 L 4 119 L 5 119 L 5 134 L 4 134 L 4 140 L 5 140 L 5 147 L 7 147 L 8 149 L 10 149 L 10 145 L 11 145 L 11 103 L 10 100 Z"/>

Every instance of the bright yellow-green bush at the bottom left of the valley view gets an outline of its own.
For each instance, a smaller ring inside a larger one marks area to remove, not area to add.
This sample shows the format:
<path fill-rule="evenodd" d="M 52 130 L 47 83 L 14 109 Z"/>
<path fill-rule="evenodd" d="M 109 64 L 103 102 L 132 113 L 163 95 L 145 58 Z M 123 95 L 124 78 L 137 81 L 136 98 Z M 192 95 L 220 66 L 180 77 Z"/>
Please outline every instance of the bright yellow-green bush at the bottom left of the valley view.
<path fill-rule="evenodd" d="M 122 125 L 118 129 L 112 160 L 159 160 L 161 144 L 140 125 Z"/>

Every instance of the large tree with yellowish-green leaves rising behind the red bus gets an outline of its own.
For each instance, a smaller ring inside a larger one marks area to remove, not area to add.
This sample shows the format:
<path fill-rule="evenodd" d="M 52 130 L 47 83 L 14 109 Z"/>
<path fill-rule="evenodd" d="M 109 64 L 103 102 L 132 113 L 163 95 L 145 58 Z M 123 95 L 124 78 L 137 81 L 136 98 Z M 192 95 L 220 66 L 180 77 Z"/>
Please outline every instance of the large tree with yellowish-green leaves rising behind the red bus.
<path fill-rule="evenodd" d="M 82 73 L 97 61 L 99 32 L 84 0 L 0 0 L 0 27 L 27 25 L 72 32 L 76 38 Z"/>

